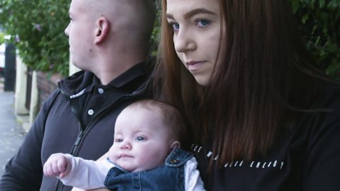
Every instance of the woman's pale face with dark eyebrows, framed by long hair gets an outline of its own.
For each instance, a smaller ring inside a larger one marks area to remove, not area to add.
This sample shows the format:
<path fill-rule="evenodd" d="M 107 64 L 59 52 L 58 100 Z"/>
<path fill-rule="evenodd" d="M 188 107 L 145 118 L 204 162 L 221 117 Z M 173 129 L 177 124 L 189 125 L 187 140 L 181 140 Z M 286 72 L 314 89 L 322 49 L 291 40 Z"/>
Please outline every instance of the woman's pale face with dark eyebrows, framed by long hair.
<path fill-rule="evenodd" d="M 174 30 L 174 47 L 179 59 L 200 85 L 208 86 L 225 52 L 224 43 L 220 47 L 225 28 L 221 37 L 218 0 L 166 0 L 166 4 L 166 18 Z"/>

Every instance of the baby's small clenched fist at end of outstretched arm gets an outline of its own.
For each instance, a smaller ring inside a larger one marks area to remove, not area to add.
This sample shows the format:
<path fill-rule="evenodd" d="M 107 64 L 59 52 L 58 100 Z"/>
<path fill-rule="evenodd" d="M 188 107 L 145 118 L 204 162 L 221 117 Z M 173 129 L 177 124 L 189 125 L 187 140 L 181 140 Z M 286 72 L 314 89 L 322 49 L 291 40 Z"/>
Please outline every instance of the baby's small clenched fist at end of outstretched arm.
<path fill-rule="evenodd" d="M 69 174 L 71 163 L 64 154 L 52 154 L 44 164 L 44 174 L 63 178 Z"/>

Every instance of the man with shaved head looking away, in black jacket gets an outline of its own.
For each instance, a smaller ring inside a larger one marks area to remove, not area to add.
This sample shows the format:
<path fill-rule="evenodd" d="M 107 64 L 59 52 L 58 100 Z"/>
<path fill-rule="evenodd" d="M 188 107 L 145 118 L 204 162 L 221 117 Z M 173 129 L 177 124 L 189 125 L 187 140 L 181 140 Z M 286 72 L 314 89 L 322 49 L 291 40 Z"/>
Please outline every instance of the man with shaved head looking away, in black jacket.
<path fill-rule="evenodd" d="M 113 144 L 117 115 L 145 97 L 152 0 L 73 0 L 69 8 L 71 61 L 84 71 L 60 81 L 16 156 L 0 190 L 71 190 L 42 175 L 52 153 L 96 160 Z"/>

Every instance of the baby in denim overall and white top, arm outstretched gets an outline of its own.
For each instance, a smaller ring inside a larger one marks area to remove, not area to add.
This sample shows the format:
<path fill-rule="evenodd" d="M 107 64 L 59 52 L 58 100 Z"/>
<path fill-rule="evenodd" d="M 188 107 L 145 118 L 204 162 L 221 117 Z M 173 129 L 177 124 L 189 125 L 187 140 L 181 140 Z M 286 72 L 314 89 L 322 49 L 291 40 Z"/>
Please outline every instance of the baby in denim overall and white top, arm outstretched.
<path fill-rule="evenodd" d="M 52 154 L 44 173 L 84 190 L 204 190 L 196 159 L 179 149 L 186 129 L 173 106 L 140 100 L 118 115 L 106 160 Z"/>

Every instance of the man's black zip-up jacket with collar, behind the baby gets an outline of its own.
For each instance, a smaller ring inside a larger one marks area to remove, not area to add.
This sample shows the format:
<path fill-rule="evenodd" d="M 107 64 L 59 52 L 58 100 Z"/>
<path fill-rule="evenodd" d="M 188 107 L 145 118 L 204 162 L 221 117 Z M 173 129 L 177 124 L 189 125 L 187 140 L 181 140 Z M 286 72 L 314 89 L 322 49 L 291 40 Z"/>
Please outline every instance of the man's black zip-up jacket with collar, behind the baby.
<path fill-rule="evenodd" d="M 105 154 L 113 144 L 115 119 L 120 111 L 147 97 L 147 79 L 144 64 L 137 64 L 103 86 L 111 94 L 105 97 L 101 92 L 102 100 L 95 97 L 96 88 L 101 85 L 96 85 L 98 79 L 90 72 L 79 71 L 60 81 L 59 88 L 42 105 L 18 154 L 7 163 L 0 190 L 71 190 L 57 178 L 43 175 L 47 158 L 53 153 L 69 153 L 96 160 Z M 94 107 L 101 107 L 84 120 L 86 105 L 91 105 L 89 100 L 95 102 Z"/>

